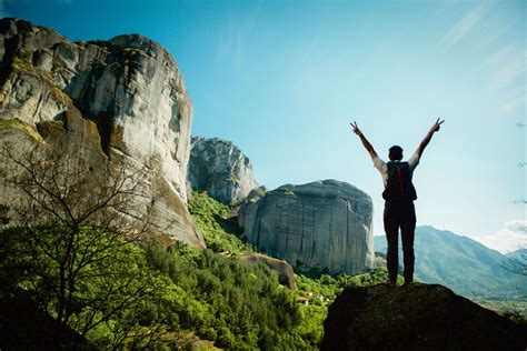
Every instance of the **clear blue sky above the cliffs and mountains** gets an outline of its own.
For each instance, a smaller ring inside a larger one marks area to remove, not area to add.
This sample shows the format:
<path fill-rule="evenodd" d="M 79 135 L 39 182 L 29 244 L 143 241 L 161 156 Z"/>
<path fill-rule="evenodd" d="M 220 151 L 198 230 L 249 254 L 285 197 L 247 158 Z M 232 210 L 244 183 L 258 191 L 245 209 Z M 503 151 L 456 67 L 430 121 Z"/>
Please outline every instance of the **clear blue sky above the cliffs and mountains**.
<path fill-rule="evenodd" d="M 158 41 L 187 82 L 192 134 L 233 141 L 269 189 L 357 185 L 377 234 L 381 180 L 349 122 L 380 156 L 410 157 L 444 118 L 415 173 L 418 222 L 470 237 L 525 223 L 525 1 L 0 0 L 0 16 L 72 41 Z"/>

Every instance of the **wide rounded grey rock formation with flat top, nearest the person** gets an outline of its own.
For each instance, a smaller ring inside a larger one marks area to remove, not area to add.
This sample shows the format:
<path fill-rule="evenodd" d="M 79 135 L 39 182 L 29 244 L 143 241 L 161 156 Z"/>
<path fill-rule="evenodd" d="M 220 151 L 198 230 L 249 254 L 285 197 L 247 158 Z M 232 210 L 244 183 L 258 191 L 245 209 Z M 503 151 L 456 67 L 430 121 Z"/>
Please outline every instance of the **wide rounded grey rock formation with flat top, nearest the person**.
<path fill-rule="evenodd" d="M 324 180 L 253 190 L 238 211 L 248 242 L 294 265 L 356 274 L 374 267 L 371 198 Z"/>

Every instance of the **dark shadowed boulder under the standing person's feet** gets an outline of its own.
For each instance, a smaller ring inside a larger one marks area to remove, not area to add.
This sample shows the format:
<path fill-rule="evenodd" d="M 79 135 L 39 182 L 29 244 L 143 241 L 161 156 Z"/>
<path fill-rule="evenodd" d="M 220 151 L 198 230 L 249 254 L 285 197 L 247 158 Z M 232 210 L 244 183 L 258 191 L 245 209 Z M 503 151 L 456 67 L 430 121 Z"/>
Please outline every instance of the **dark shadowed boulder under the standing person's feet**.
<path fill-rule="evenodd" d="M 348 288 L 321 350 L 525 350 L 527 328 L 441 285 Z"/>

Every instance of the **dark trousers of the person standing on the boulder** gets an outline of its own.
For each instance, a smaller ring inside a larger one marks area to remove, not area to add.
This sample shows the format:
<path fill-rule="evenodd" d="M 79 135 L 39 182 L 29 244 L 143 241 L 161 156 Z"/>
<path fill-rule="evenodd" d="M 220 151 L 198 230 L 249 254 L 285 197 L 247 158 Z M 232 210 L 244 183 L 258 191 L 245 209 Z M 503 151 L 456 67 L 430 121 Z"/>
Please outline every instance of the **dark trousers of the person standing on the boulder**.
<path fill-rule="evenodd" d="M 397 200 L 385 202 L 385 232 L 388 241 L 386 253 L 390 282 L 397 281 L 399 268 L 399 228 L 402 239 L 402 254 L 405 261 L 405 282 L 414 280 L 414 235 L 416 231 L 416 209 L 411 200 Z"/>

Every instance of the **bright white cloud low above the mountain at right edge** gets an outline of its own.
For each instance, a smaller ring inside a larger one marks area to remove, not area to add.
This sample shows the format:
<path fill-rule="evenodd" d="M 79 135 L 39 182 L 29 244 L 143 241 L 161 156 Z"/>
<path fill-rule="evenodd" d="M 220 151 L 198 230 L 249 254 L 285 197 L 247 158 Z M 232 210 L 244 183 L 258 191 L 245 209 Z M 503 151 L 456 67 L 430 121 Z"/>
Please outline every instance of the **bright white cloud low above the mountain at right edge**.
<path fill-rule="evenodd" d="M 494 234 L 473 237 L 487 248 L 508 253 L 518 249 L 527 248 L 527 220 L 517 219 L 508 221 L 504 228 Z"/>

